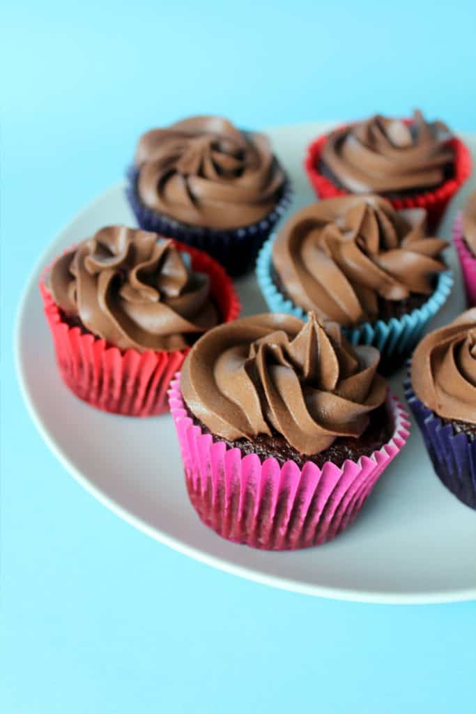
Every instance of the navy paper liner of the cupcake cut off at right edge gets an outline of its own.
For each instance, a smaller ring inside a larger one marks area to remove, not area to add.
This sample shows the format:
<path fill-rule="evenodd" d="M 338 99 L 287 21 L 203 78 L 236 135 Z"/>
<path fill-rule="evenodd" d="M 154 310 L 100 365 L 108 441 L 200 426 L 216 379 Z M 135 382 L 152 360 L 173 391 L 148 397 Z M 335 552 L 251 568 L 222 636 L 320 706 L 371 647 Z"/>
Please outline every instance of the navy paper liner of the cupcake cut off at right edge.
<path fill-rule="evenodd" d="M 442 423 L 416 396 L 409 379 L 404 388 L 437 476 L 456 498 L 476 509 L 476 439 L 470 441 L 467 434 Z"/>

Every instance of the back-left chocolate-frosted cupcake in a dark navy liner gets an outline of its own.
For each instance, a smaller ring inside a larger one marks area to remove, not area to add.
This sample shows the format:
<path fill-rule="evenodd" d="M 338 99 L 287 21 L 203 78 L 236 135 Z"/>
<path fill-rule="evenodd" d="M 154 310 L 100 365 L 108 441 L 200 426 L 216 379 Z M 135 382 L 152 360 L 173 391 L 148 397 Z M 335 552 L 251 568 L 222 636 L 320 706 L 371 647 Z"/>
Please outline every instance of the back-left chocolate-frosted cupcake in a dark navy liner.
<path fill-rule="evenodd" d="M 141 228 L 201 248 L 233 276 L 253 268 L 290 200 L 268 139 L 218 116 L 143 134 L 127 195 Z"/>

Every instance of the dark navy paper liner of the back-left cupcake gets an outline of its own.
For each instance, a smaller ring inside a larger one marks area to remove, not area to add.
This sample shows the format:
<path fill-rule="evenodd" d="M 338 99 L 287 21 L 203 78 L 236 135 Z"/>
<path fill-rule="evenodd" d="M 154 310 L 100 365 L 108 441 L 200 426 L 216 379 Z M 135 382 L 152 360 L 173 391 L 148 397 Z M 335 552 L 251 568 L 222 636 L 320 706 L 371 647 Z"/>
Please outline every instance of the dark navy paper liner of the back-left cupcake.
<path fill-rule="evenodd" d="M 287 181 L 283 196 L 268 216 L 250 226 L 222 231 L 188 226 L 186 223 L 174 221 L 168 216 L 152 211 L 151 208 L 144 206 L 138 196 L 137 179 L 136 166 L 130 166 L 127 171 L 126 196 L 136 215 L 138 225 L 146 231 L 155 231 L 162 236 L 176 238 L 188 246 L 200 248 L 216 258 L 233 277 L 244 275 L 254 268 L 260 247 L 287 211 L 292 198 L 290 183 Z"/>

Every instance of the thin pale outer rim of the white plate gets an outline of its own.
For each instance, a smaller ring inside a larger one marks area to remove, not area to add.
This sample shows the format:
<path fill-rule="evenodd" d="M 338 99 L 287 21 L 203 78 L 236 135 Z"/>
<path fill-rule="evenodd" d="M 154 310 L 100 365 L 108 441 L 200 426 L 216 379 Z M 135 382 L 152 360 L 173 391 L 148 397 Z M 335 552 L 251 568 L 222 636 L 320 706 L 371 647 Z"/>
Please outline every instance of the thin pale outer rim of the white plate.
<path fill-rule="evenodd" d="M 273 130 L 302 130 L 305 126 L 329 126 L 332 122 L 302 122 L 297 124 L 279 125 L 270 128 L 269 131 Z M 465 133 L 462 133 L 464 136 Z M 475 134 L 467 134 L 471 136 L 472 139 L 476 138 Z M 95 196 L 91 201 L 88 201 L 83 207 L 77 211 L 77 213 L 66 223 L 66 225 L 56 232 L 54 238 L 49 241 L 45 246 L 44 250 L 41 251 L 39 258 L 35 261 L 33 268 L 31 269 L 26 283 L 21 290 L 21 295 L 19 298 L 19 303 L 16 308 L 16 314 L 14 318 L 14 368 L 16 373 L 16 378 L 19 383 L 21 398 L 23 399 L 26 411 L 33 421 L 34 426 L 39 432 L 41 438 L 43 439 L 46 446 L 49 448 L 54 457 L 61 463 L 67 473 L 69 473 L 73 478 L 88 492 L 96 498 L 103 506 L 106 506 L 109 511 L 115 513 L 116 516 L 126 521 L 133 528 L 137 528 L 138 531 L 145 533 L 153 540 L 158 540 L 158 542 L 167 545 L 168 548 L 176 550 L 178 553 L 186 555 L 188 558 L 193 558 L 193 560 L 198 560 L 198 562 L 205 563 L 213 568 L 222 570 L 231 575 L 236 575 L 240 578 L 245 578 L 245 580 L 251 580 L 255 583 L 260 583 L 261 585 L 268 585 L 270 587 L 278 588 L 280 590 L 288 590 L 290 592 L 299 593 L 301 595 L 312 595 L 314 597 L 320 598 L 330 598 L 333 600 L 345 600 L 348 602 L 358 602 L 358 603 L 372 603 L 380 605 L 429 605 L 429 604 L 442 604 L 442 603 L 457 603 L 457 602 L 467 602 L 470 600 L 476 600 L 476 585 L 470 588 L 458 588 L 449 590 L 420 590 L 417 593 L 411 590 L 405 590 L 399 593 L 388 593 L 380 590 L 353 590 L 352 588 L 335 588 L 330 585 L 318 585 L 303 583 L 299 580 L 293 578 L 288 578 L 280 575 L 270 575 L 268 573 L 260 572 L 254 568 L 247 567 L 244 565 L 238 565 L 236 563 L 226 560 L 226 558 L 221 558 L 217 555 L 211 555 L 205 551 L 193 547 L 188 543 L 176 538 L 164 531 L 158 530 L 158 528 L 153 527 L 141 520 L 138 516 L 129 512 L 121 506 L 121 504 L 114 501 L 114 499 L 108 495 L 108 493 L 98 488 L 85 474 L 81 473 L 79 468 L 76 468 L 74 463 L 69 460 L 67 454 L 61 449 L 58 443 L 56 443 L 54 436 L 48 431 L 44 423 L 41 421 L 41 416 L 36 408 L 34 399 L 29 391 L 28 384 L 26 383 L 26 377 L 24 375 L 23 360 L 21 353 L 21 336 L 22 336 L 22 326 L 24 319 L 26 318 L 26 303 L 29 299 L 31 291 L 36 288 L 36 283 L 39 281 L 41 273 L 44 271 L 44 267 L 47 265 L 49 255 L 54 252 L 56 245 L 61 243 L 61 238 L 65 231 L 69 231 L 71 226 L 83 215 L 83 213 L 91 211 L 96 204 L 101 203 L 101 201 L 106 198 L 108 194 L 116 193 L 118 190 L 125 186 L 126 181 L 123 179 L 113 183 L 111 186 L 101 191 L 97 196 Z M 218 536 L 217 536 L 218 537 Z"/>

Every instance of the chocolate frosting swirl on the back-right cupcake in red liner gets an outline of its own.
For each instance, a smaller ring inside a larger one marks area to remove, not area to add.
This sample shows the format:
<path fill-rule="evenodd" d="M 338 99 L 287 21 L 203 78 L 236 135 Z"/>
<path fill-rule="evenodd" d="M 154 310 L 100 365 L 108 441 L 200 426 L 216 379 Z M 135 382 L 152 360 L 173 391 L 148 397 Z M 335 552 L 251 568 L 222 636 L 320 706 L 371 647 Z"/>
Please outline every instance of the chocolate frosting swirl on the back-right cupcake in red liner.
<path fill-rule="evenodd" d="M 376 114 L 329 134 L 322 160 L 353 193 L 418 191 L 439 186 L 455 159 L 450 130 L 415 111 L 410 124 Z"/>

